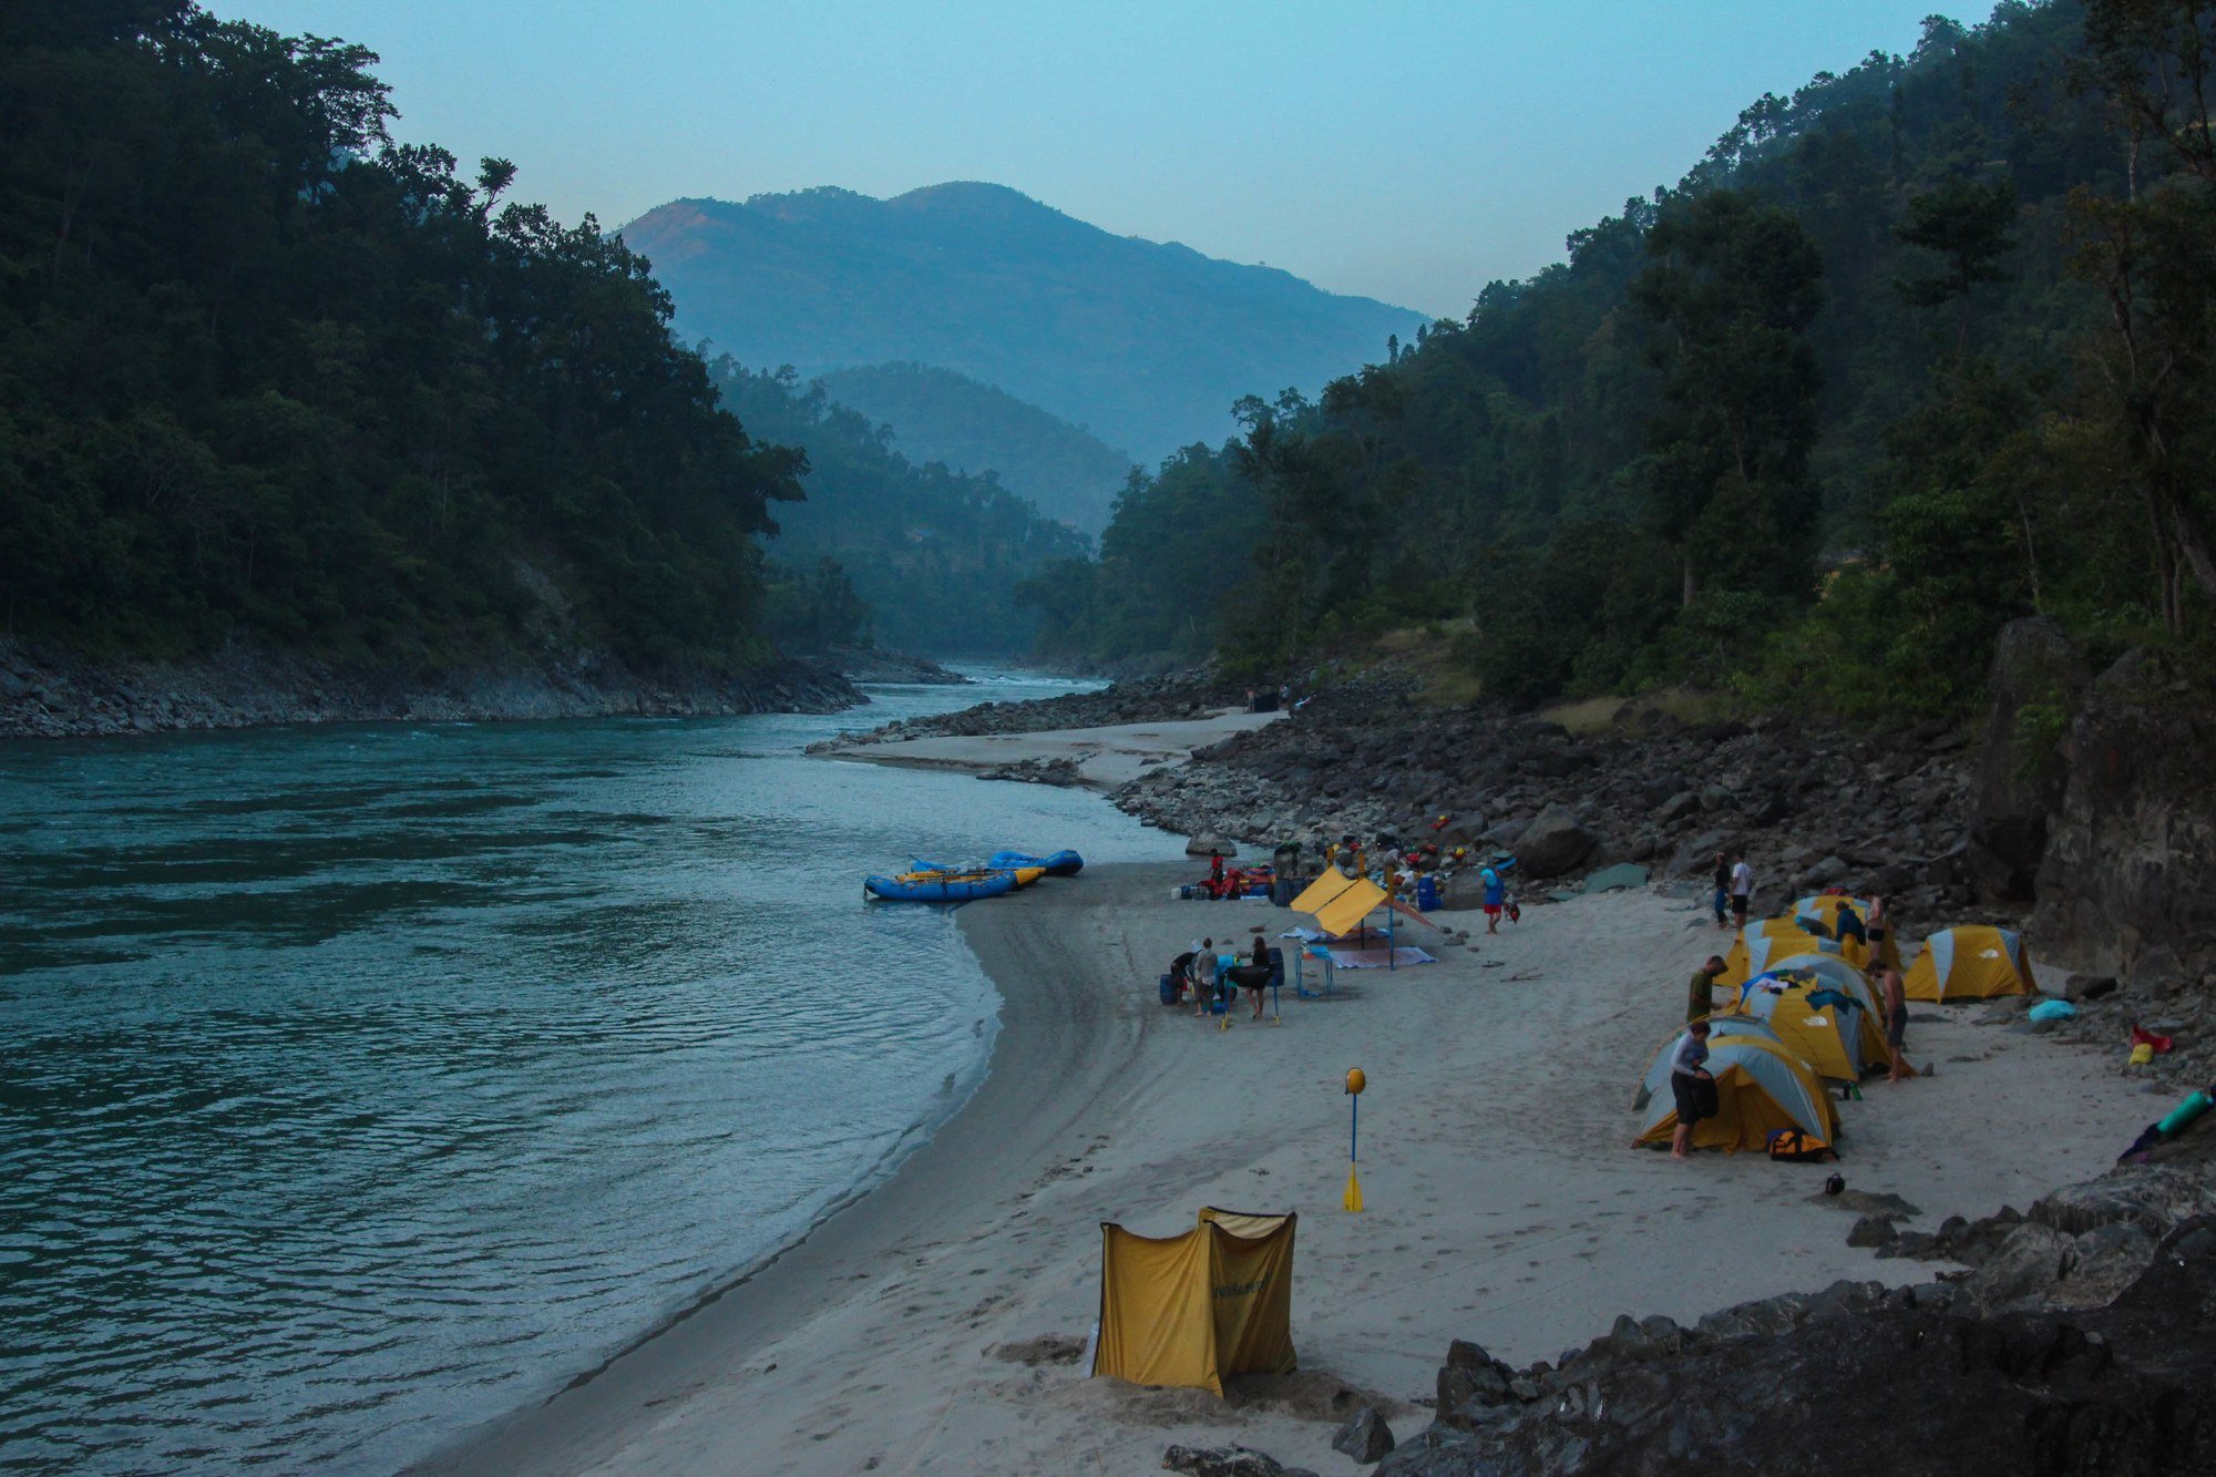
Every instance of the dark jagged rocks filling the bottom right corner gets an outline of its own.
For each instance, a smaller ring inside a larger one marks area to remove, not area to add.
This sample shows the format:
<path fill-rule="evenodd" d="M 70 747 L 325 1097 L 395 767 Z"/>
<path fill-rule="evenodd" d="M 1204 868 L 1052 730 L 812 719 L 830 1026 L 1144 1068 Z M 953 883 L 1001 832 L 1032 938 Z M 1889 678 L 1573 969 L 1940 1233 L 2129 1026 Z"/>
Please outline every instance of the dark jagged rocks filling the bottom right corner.
<path fill-rule="evenodd" d="M 1520 1371 L 1456 1344 L 1436 1422 L 1376 1470 L 2212 1470 L 2216 1220 L 2187 1220 L 2130 1264 L 2121 1295 L 2090 1311 L 1992 1317 L 1946 1282 L 1839 1282 L 1695 1328 L 1618 1317 Z"/>

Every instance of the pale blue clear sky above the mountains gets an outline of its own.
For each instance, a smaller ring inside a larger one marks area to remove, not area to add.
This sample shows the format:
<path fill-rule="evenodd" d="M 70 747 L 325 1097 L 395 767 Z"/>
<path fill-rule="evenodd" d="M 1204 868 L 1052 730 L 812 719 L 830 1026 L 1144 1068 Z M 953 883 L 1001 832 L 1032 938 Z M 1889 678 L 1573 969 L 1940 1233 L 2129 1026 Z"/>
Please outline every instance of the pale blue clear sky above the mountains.
<path fill-rule="evenodd" d="M 607 226 L 678 195 L 1010 184 L 1108 231 L 1460 315 L 1935 0 L 215 0 L 359 40 L 397 133 Z M 1952 11 L 1974 22 L 1988 0 Z"/>

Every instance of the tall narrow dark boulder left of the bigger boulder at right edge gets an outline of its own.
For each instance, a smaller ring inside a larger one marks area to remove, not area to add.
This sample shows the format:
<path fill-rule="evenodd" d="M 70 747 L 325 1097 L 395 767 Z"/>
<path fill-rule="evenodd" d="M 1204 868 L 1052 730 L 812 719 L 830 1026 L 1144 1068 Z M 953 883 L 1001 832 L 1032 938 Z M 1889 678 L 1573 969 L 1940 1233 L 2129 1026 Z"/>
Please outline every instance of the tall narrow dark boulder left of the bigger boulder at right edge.
<path fill-rule="evenodd" d="M 1981 903 L 2032 896 L 2048 814 L 2061 807 L 2070 778 L 2056 741 L 2090 681 L 2083 654 L 2056 621 L 2028 617 L 2001 628 L 1986 676 L 1992 710 L 1970 758 L 1966 869 Z"/>

